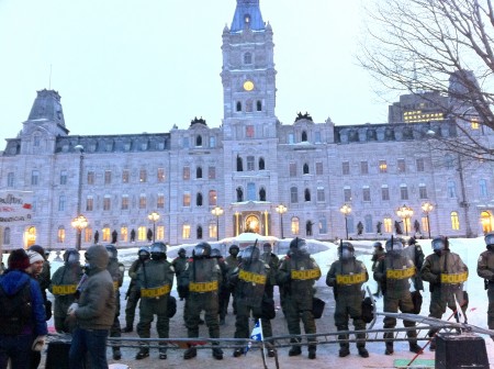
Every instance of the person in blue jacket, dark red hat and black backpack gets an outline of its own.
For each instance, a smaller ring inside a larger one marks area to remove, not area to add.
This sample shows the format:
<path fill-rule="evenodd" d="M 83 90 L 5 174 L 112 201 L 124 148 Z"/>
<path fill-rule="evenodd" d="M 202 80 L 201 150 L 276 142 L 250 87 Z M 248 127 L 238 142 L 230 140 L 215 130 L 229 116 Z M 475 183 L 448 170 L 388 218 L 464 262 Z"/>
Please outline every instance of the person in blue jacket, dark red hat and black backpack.
<path fill-rule="evenodd" d="M 31 267 L 24 249 L 13 250 L 0 277 L 0 369 L 31 368 L 32 350 L 43 349 L 48 328 L 40 284 L 26 272 Z"/>

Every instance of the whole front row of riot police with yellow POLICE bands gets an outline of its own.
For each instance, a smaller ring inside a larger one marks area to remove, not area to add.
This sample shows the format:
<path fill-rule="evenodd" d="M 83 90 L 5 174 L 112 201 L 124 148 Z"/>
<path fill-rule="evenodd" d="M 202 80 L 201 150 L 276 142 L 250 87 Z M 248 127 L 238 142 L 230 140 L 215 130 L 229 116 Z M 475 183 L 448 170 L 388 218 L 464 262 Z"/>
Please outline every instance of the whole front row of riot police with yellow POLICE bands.
<path fill-rule="evenodd" d="M 481 254 L 478 261 L 478 273 L 486 281 L 489 295 L 487 324 L 494 329 L 494 233 L 485 236 L 487 249 Z M 408 242 L 408 247 L 400 238 L 391 238 L 385 243 L 385 253 L 380 243 L 375 243 L 375 253 L 379 257 L 373 259 L 373 278 L 378 281 L 384 298 L 384 312 L 416 313 L 420 311 L 420 293 L 424 289 L 423 280 L 429 282 L 431 293 L 429 316 L 440 318 L 449 308 L 458 318 L 457 303 L 463 314 L 468 305 L 468 294 L 463 291 L 463 283 L 468 279 L 468 267 L 461 258 L 449 249 L 446 237 L 439 236 L 433 239 L 433 254 L 424 260 L 424 253 L 415 239 Z M 110 255 L 109 271 L 114 281 L 116 301 L 120 302 L 120 287 L 123 282 L 124 266 L 117 260 L 117 250 L 113 245 L 106 246 Z M 159 338 L 169 337 L 169 306 L 170 291 L 173 277 L 177 278 L 177 290 L 180 300 L 184 303 L 184 322 L 188 337 L 199 337 L 201 312 L 204 311 L 205 324 L 211 338 L 220 338 L 220 325 L 224 323 L 224 316 L 228 306 L 229 295 L 234 298 L 236 313 L 235 338 L 249 337 L 250 316 L 261 320 L 263 337 L 272 336 L 270 320 L 274 317 L 273 287 L 280 288 L 280 300 L 287 318 L 288 329 L 293 346 L 289 356 L 302 354 L 301 340 L 296 335 L 301 334 L 301 321 L 305 334 L 315 334 L 316 325 L 313 315 L 313 298 L 315 281 L 321 277 L 321 269 L 311 257 L 306 242 L 294 238 L 290 243 L 287 256 L 281 260 L 272 253 L 270 244 L 263 245 L 263 251 L 254 245 L 245 248 L 239 255 L 236 245 L 231 246 L 229 257 L 223 259 L 217 249 L 212 249 L 210 244 L 200 243 L 192 250 L 192 256 L 181 248 L 178 257 L 172 262 L 167 260 L 167 246 L 155 243 L 149 248 L 138 250 L 138 258 L 128 270 L 131 283 L 127 291 L 127 305 L 125 309 L 126 326 L 124 332 L 132 332 L 135 309 L 138 301 L 139 320 L 137 333 L 142 338 L 150 337 L 150 324 L 157 316 L 157 333 Z M 378 253 L 379 251 L 379 253 Z M 366 358 L 369 353 L 366 349 L 366 322 L 362 318 L 362 284 L 369 279 L 368 271 L 362 261 L 356 259 L 351 243 L 341 242 L 338 247 L 338 259 L 334 261 L 326 276 L 326 284 L 334 289 L 336 300 L 335 325 L 338 332 L 348 331 L 349 318 L 352 320 L 357 333 L 358 354 Z M 70 320 L 67 318 L 67 308 L 77 298 L 75 289 L 81 278 L 82 269 L 79 264 L 79 253 L 68 249 L 64 255 L 64 266 L 53 276 L 49 291 L 55 295 L 55 328 L 57 332 L 74 329 Z M 412 280 L 412 291 L 411 283 Z M 418 304 L 418 306 L 417 306 Z M 116 309 L 111 337 L 120 337 L 120 305 Z M 384 318 L 384 328 L 396 326 L 394 317 Z M 415 326 L 414 322 L 404 321 L 405 327 Z M 435 349 L 435 335 L 437 331 L 430 331 L 430 349 Z M 420 353 L 417 344 L 417 334 L 414 329 L 407 331 L 409 350 Z M 343 333 L 340 339 L 339 356 L 350 354 L 348 335 Z M 360 339 L 359 339 L 360 338 Z M 385 354 L 393 354 L 393 333 L 385 333 Z M 269 342 L 269 340 L 268 340 Z M 216 347 L 217 346 L 217 347 Z M 274 356 L 274 347 L 267 345 L 268 356 Z M 308 338 L 308 358 L 316 358 L 316 339 Z M 234 357 L 244 354 L 243 349 L 235 349 Z M 184 351 L 183 358 L 191 359 L 198 355 L 191 339 L 191 345 Z M 212 355 L 215 359 L 223 359 L 223 350 L 217 342 L 213 342 Z M 120 347 L 113 347 L 113 358 L 122 356 Z M 136 359 L 149 356 L 148 346 L 143 343 Z M 159 358 L 167 358 L 167 347 L 160 344 Z"/>

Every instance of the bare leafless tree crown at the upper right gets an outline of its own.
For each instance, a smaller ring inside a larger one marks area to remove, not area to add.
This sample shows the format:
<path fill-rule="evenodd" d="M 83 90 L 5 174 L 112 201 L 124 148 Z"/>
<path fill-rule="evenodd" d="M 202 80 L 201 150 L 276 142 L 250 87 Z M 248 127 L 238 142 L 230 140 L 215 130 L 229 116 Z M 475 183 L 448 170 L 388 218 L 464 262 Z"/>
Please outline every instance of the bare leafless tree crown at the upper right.
<path fill-rule="evenodd" d="M 434 91 L 456 138 L 444 148 L 481 160 L 493 160 L 484 135 L 471 130 L 494 128 L 494 10 L 491 0 L 375 0 L 359 63 L 381 90 Z M 442 101 L 442 102 L 441 102 Z M 438 100 L 430 100 L 438 103 Z M 436 122 L 440 123 L 440 122 Z M 439 125 L 436 125 L 439 128 Z M 436 130 L 431 130 L 434 135 Z M 440 137 L 436 135 L 436 138 Z"/>

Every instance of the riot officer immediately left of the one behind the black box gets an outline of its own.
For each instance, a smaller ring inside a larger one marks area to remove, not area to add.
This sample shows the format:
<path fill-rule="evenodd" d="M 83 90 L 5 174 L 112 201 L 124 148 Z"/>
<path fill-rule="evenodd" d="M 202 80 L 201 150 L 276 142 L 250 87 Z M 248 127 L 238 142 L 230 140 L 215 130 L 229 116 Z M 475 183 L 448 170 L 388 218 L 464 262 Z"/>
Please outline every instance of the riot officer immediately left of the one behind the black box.
<path fill-rule="evenodd" d="M 390 238 L 386 241 L 386 254 L 383 259 L 378 261 L 374 270 L 374 280 L 380 283 L 382 294 L 384 295 L 384 312 L 397 313 L 398 309 L 403 313 L 413 313 L 414 303 L 409 292 L 409 279 L 416 275 L 414 262 L 403 251 L 403 242 L 400 238 Z M 403 321 L 405 327 L 415 326 L 415 322 Z M 385 316 L 384 328 L 394 328 L 396 326 L 396 318 Z M 417 345 L 417 331 L 409 329 L 408 346 L 412 353 L 420 353 L 422 348 Z M 385 355 L 393 355 L 392 332 L 384 333 L 385 339 Z"/>

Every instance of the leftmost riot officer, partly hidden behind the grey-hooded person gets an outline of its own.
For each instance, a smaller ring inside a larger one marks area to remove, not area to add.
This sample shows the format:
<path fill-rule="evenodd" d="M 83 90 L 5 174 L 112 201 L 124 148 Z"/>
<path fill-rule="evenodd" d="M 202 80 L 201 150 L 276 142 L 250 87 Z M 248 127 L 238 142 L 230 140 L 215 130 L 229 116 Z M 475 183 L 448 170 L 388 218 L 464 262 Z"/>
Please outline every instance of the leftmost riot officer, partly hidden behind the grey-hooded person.
<path fill-rule="evenodd" d="M 55 297 L 54 321 L 58 333 L 71 333 L 75 328 L 67 320 L 67 311 L 76 301 L 76 288 L 82 277 L 79 251 L 69 248 L 64 253 L 64 265 L 52 277 L 49 292 Z"/>

